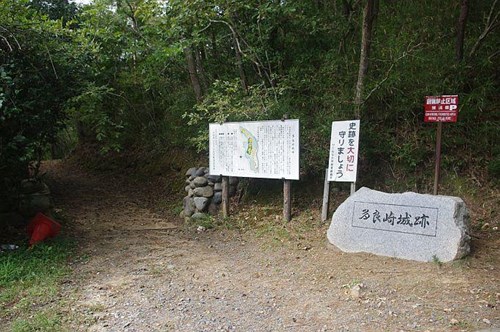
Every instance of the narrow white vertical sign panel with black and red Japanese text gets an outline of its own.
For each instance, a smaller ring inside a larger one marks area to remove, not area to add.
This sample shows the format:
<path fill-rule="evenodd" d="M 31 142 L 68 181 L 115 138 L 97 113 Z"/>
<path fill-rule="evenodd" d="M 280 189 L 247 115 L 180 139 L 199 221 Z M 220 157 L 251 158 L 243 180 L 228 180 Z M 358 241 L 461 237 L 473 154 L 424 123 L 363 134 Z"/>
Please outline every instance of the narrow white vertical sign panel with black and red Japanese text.
<path fill-rule="evenodd" d="M 356 182 L 359 120 L 332 122 L 328 181 Z"/>

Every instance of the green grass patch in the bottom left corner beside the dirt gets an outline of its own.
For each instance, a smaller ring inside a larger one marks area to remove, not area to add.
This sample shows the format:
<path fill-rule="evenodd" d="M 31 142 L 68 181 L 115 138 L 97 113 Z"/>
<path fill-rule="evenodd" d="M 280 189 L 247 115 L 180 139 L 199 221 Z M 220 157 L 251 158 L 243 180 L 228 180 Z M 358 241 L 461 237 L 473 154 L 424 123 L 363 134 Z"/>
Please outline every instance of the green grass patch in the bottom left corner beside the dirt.
<path fill-rule="evenodd" d="M 0 253 L 0 328 L 11 322 L 12 331 L 60 330 L 59 315 L 44 306 L 56 300 L 74 249 L 72 241 L 57 238 Z"/>

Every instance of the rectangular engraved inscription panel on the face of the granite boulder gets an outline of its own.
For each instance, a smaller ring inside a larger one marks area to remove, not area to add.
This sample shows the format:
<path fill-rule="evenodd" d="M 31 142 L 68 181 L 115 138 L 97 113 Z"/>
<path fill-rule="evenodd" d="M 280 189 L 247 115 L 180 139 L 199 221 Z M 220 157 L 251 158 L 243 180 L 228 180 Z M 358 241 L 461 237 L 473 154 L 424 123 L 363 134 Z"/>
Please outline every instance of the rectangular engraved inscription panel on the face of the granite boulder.
<path fill-rule="evenodd" d="M 354 202 L 352 226 L 435 237 L 437 218 L 433 207 Z"/>

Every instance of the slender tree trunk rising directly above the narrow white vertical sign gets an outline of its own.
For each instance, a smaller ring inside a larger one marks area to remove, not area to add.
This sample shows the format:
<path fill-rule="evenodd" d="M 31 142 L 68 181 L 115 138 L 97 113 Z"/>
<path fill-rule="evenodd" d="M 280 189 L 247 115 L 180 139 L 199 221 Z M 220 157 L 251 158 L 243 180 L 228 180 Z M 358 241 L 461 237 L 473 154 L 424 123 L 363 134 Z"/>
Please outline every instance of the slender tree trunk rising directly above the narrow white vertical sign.
<path fill-rule="evenodd" d="M 356 106 L 356 117 L 361 117 L 361 104 L 363 103 L 363 88 L 370 56 L 372 42 L 373 21 L 377 16 L 377 0 L 367 0 L 363 11 L 363 30 L 361 34 L 361 52 L 359 56 L 358 81 L 356 83 L 356 96 L 354 105 Z"/>

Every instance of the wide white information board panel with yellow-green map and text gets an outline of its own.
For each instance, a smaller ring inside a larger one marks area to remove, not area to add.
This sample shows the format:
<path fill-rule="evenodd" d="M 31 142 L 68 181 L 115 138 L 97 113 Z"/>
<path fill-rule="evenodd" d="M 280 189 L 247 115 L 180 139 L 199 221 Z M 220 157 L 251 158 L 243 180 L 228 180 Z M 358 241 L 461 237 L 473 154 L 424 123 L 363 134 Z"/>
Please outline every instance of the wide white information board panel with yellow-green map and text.
<path fill-rule="evenodd" d="M 210 174 L 299 179 L 299 120 L 211 123 Z"/>

